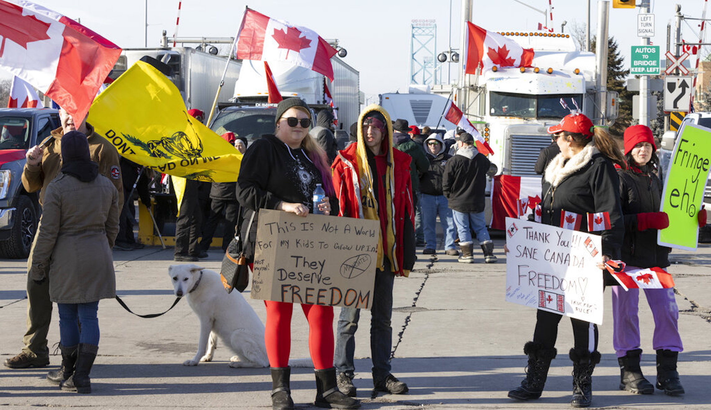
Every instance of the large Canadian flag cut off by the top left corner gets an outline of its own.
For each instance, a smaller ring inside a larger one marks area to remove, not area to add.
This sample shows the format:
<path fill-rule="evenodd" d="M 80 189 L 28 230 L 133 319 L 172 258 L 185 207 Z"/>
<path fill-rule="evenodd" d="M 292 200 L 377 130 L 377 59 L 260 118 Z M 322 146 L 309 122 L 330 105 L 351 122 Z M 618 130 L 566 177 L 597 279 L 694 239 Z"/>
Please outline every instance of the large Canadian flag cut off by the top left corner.
<path fill-rule="evenodd" d="M 0 67 L 81 122 L 121 48 L 66 16 L 24 0 L 0 0 Z"/>

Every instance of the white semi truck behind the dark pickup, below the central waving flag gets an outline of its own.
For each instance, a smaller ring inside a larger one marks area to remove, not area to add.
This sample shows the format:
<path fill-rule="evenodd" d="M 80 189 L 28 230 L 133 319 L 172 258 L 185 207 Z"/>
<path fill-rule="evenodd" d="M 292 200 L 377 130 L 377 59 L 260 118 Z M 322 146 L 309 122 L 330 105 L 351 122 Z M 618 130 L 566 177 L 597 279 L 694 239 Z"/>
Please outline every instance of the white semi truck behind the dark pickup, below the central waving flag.
<path fill-rule="evenodd" d="M 324 75 L 308 68 L 279 62 L 269 62 L 274 82 L 282 97 L 299 97 L 314 108 L 330 109 L 324 97 L 324 79 L 331 92 L 333 108 L 336 109 L 336 129 L 348 130 L 358 121 L 360 114 L 360 73 L 341 58 L 331 58 L 333 82 Z M 265 103 L 269 92 L 262 61 L 243 60 L 240 77 L 234 85 L 233 102 L 236 104 Z"/>

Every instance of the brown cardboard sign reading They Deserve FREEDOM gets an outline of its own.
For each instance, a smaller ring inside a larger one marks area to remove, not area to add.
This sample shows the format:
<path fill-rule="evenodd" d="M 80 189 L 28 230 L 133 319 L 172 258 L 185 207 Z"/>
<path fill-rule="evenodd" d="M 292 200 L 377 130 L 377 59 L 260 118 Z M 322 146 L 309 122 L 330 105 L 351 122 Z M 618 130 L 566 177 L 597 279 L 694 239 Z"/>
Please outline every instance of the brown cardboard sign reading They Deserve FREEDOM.
<path fill-rule="evenodd" d="M 380 222 L 260 210 L 253 299 L 369 309 Z"/>

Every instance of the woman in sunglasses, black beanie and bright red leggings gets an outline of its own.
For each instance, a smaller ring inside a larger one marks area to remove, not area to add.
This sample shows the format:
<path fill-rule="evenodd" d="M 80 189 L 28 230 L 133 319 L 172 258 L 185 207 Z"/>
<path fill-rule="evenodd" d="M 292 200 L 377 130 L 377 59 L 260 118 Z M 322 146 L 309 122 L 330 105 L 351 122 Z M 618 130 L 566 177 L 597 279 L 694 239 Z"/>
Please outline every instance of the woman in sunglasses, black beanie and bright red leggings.
<path fill-rule="evenodd" d="M 240 234 L 247 260 L 254 260 L 257 216 L 249 226 L 252 212 L 260 208 L 283 210 L 306 217 L 317 206 L 324 215 L 338 214 L 333 195 L 331 170 L 326 153 L 309 136 L 311 112 L 299 98 L 287 98 L 277 105 L 276 132 L 264 134 L 250 145 L 242 158 L 237 178 L 237 200 L 243 215 Z M 312 203 L 316 184 L 328 195 Z M 250 232 L 247 232 L 250 230 Z M 247 236 L 248 234 L 248 236 Z M 264 342 L 272 369 L 272 409 L 294 409 L 289 390 L 289 349 L 291 347 L 292 303 L 264 301 L 267 323 Z M 319 407 L 358 409 L 360 402 L 338 391 L 333 368 L 333 307 L 301 304 L 309 321 L 309 352 L 316 372 L 316 401 Z"/>

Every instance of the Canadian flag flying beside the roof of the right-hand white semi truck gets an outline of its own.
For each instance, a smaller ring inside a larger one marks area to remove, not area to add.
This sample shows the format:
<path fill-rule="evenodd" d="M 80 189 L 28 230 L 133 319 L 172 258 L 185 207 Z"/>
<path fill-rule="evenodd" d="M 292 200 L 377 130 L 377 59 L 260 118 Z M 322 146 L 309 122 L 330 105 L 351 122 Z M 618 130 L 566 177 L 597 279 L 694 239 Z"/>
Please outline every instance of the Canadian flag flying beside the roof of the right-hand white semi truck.
<path fill-rule="evenodd" d="M 467 74 L 476 74 L 476 69 L 491 70 L 496 67 L 531 67 L 533 48 L 523 48 L 499 33 L 487 31 L 467 21 L 469 35 L 466 36 Z M 479 72 L 481 72 L 481 70 Z"/>

